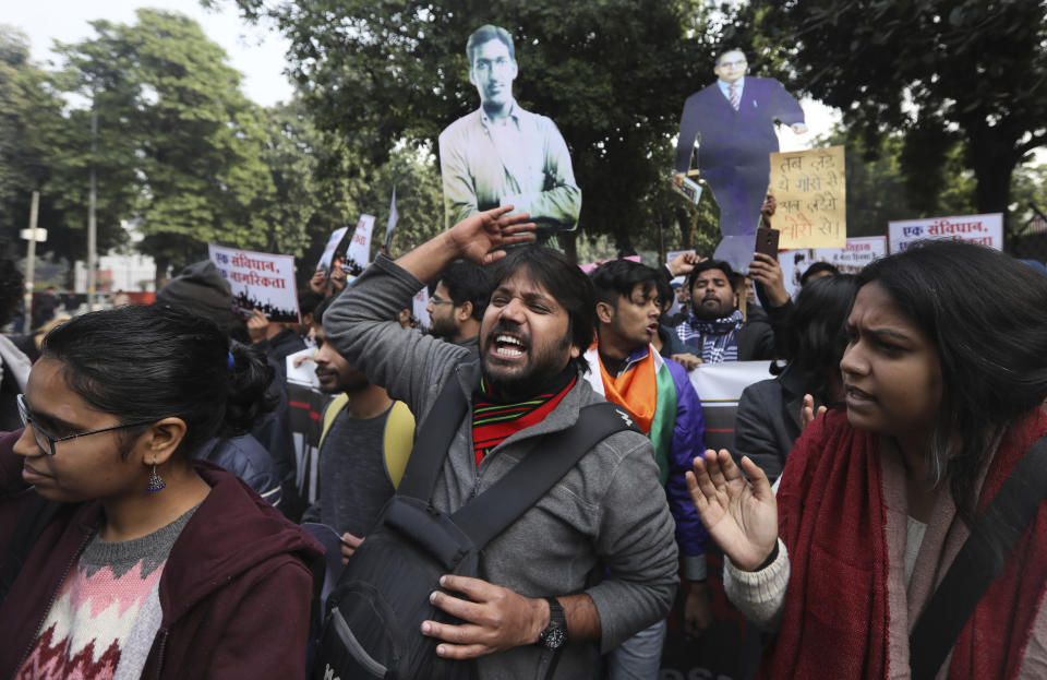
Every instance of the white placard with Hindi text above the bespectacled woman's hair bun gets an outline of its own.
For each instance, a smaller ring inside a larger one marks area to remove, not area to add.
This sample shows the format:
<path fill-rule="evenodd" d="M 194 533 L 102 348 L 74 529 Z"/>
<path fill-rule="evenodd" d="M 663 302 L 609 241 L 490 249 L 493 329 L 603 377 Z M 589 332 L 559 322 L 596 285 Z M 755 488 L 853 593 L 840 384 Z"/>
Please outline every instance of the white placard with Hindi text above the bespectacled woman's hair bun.
<path fill-rule="evenodd" d="M 210 261 L 232 288 L 233 311 L 261 310 L 269 321 L 301 323 L 294 258 L 207 244 Z"/>

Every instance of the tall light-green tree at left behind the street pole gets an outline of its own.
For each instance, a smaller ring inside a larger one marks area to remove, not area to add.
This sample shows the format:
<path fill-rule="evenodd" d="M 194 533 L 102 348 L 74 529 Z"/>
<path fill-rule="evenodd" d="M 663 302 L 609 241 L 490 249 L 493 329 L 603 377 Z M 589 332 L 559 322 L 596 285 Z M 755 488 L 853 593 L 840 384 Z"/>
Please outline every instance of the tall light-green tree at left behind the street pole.
<path fill-rule="evenodd" d="M 67 214 L 86 213 L 86 186 L 68 175 L 86 175 L 94 163 L 99 206 L 137 218 L 139 248 L 160 266 L 202 259 L 208 242 L 264 248 L 280 234 L 265 220 L 275 188 L 263 163 L 264 112 L 196 22 L 156 10 L 136 16 L 133 25 L 94 22 L 94 38 L 59 48 L 64 88 L 86 98 L 69 117 L 75 133 L 60 174 Z M 99 214 L 98 223 L 110 219 Z"/>

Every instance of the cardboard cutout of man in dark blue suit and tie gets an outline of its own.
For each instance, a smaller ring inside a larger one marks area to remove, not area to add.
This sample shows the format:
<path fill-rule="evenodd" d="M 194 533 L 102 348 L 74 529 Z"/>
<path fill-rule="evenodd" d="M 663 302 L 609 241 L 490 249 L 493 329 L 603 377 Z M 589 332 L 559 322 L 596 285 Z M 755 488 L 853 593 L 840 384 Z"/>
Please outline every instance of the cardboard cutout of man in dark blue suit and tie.
<path fill-rule="evenodd" d="M 746 76 L 745 53 L 720 55 L 717 82 L 687 97 L 676 142 L 677 172 L 690 169 L 698 144 L 698 169 L 720 204 L 723 240 L 713 255 L 745 271 L 753 260 L 760 205 L 770 183 L 770 154 L 777 152 L 774 121 L 807 132 L 799 103 L 771 77 Z"/>

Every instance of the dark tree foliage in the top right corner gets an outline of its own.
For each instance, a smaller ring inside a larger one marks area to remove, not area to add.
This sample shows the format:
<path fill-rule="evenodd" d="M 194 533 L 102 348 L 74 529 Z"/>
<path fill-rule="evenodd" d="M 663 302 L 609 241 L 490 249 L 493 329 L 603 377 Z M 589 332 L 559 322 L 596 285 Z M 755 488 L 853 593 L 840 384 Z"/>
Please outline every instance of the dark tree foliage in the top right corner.
<path fill-rule="evenodd" d="M 1006 212 L 1013 169 L 1047 142 L 1047 2 L 754 0 L 790 86 L 844 112 L 876 150 L 905 135 L 907 186 L 934 201 L 955 143 L 978 212 Z M 923 207 L 926 207 L 924 205 Z"/>

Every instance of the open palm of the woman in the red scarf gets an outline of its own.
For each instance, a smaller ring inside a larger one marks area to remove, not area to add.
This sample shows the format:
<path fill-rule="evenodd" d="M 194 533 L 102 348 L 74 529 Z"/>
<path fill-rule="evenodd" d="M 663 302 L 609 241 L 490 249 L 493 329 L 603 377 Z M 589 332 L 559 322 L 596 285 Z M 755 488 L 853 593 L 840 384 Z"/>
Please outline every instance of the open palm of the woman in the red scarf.
<path fill-rule="evenodd" d="M 749 479 L 726 449 L 707 451 L 687 473 L 687 490 L 717 545 L 736 566 L 753 571 L 778 540 L 778 503 L 763 470 L 748 457 L 742 467 Z"/>

